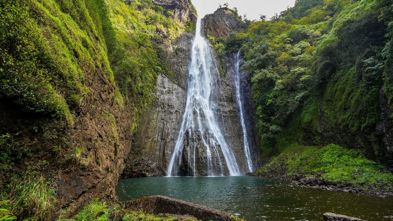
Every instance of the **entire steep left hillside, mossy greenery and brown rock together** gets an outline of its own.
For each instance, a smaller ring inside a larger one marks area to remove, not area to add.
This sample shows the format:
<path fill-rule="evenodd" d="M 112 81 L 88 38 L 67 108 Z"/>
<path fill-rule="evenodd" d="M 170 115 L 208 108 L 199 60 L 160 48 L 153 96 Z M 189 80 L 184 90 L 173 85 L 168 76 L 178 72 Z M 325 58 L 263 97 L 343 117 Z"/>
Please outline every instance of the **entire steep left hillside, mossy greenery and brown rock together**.
<path fill-rule="evenodd" d="M 169 71 L 160 53 L 192 30 L 177 15 L 150 0 L 0 1 L 0 201 L 14 214 L 69 216 L 115 197 Z"/>

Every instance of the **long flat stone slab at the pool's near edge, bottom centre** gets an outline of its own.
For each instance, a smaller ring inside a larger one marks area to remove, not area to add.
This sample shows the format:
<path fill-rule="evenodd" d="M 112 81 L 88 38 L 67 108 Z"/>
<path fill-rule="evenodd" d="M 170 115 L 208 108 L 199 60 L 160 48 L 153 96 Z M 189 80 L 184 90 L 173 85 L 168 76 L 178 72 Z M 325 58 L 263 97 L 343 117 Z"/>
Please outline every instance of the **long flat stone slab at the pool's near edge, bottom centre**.
<path fill-rule="evenodd" d="M 143 210 L 147 213 L 160 214 L 171 213 L 179 215 L 192 215 L 201 220 L 223 220 L 237 221 L 240 218 L 219 210 L 206 206 L 186 202 L 184 200 L 173 199 L 166 196 L 149 196 L 136 200 L 122 202 L 125 209 Z"/>

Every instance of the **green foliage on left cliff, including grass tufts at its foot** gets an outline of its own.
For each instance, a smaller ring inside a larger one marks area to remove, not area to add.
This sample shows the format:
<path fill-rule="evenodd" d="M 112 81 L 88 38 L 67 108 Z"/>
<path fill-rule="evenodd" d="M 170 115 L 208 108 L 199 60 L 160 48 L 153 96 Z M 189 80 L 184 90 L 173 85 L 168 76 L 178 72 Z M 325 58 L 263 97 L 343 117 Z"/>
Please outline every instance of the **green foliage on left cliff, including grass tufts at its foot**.
<path fill-rule="evenodd" d="M 193 28 L 174 22 L 172 15 L 151 0 L 0 1 L 0 102 L 38 119 L 26 125 L 15 119 L 22 126 L 0 129 L 0 201 L 12 204 L 4 217 L 53 219 L 53 171 L 61 170 L 56 168 L 61 163 L 34 156 L 53 144 L 48 148 L 53 160 L 82 160 L 82 147 L 67 146 L 69 131 L 84 106 L 98 118 L 92 105 L 100 99 L 97 87 L 114 93 L 115 109 L 132 112 L 130 131 L 138 127 L 157 75 L 167 69 L 158 55 Z M 99 114 L 111 117 L 103 120 L 116 127 L 111 113 Z M 29 165 L 28 158 L 38 160 Z"/>

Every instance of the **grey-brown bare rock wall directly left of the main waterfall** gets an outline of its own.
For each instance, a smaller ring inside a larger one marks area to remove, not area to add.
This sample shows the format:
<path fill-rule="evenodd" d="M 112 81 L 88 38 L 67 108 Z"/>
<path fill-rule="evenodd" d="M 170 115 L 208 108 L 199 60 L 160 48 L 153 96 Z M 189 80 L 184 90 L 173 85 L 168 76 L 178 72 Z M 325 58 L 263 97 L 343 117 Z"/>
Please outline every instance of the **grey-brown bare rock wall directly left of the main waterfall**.
<path fill-rule="evenodd" d="M 187 97 L 188 62 L 193 34 L 183 33 L 161 54 L 172 74 L 159 75 L 155 100 L 142 116 L 122 177 L 164 176 L 175 146 Z"/>

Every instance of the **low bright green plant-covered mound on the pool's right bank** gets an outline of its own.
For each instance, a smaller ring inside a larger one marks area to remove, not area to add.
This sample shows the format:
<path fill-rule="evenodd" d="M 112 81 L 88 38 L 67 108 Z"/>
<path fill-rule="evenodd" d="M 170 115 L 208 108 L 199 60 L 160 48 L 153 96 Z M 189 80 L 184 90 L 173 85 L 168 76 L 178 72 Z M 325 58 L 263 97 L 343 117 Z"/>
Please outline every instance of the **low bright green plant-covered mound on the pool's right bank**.
<path fill-rule="evenodd" d="M 321 174 L 321 178 L 328 181 L 392 189 L 393 175 L 384 172 L 385 169 L 384 165 L 365 158 L 360 150 L 350 150 L 335 144 L 322 148 L 292 144 L 258 172 L 279 175 Z"/>

